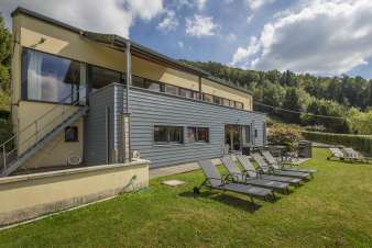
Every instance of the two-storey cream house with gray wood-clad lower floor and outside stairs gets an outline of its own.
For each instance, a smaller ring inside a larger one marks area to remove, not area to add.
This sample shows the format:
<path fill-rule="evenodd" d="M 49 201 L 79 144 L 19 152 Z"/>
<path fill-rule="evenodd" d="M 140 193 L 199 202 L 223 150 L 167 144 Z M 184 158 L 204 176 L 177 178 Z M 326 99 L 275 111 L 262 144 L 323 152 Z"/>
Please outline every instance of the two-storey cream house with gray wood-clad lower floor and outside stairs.
<path fill-rule="evenodd" d="M 2 176 L 132 154 L 156 168 L 265 145 L 249 91 L 114 34 L 22 8 L 12 19 L 15 136 L 1 145 Z"/>

